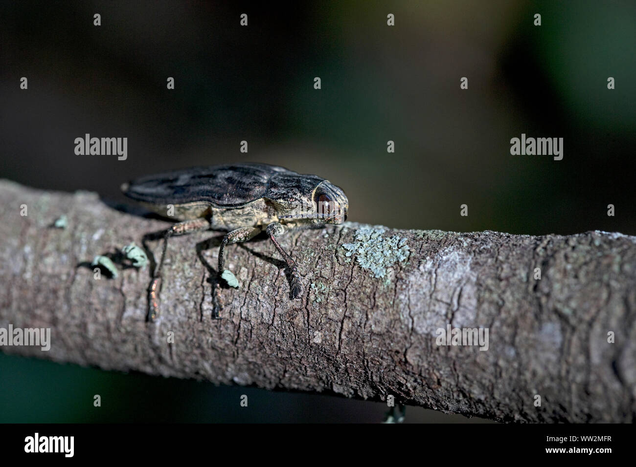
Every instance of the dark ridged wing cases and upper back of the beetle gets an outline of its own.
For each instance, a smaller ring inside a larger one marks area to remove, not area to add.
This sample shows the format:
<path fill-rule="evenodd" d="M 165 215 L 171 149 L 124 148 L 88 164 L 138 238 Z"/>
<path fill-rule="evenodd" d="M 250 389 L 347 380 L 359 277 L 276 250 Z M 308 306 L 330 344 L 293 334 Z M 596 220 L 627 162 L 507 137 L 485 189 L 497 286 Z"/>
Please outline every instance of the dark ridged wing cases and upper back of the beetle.
<path fill-rule="evenodd" d="M 323 180 L 280 166 L 240 163 L 148 175 L 130 182 L 124 193 L 133 200 L 155 205 L 207 201 L 218 207 L 233 207 L 263 197 L 279 200 L 291 187 L 310 193 Z"/>

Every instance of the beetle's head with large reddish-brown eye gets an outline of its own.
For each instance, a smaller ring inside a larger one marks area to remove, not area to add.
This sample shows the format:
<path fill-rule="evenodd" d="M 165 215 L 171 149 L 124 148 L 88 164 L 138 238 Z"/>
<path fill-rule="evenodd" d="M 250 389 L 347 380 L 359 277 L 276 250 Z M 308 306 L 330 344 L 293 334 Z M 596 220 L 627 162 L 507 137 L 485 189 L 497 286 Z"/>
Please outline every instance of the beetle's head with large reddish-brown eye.
<path fill-rule="evenodd" d="M 349 200 L 342 188 L 322 180 L 312 192 L 302 196 L 300 206 L 279 215 L 279 219 L 291 219 L 308 224 L 342 224 L 347 220 Z"/>

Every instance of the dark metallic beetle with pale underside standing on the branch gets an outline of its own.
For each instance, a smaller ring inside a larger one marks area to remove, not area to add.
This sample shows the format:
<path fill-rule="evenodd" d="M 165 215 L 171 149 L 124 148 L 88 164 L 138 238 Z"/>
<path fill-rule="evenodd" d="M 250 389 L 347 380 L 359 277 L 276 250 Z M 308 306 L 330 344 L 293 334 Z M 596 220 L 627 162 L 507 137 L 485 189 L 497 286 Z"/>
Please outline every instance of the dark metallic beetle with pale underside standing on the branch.
<path fill-rule="evenodd" d="M 265 231 L 287 264 L 291 296 L 303 291 L 296 262 L 277 237 L 295 229 L 342 224 L 349 200 L 344 191 L 317 175 L 293 172 L 263 163 L 193 167 L 141 177 L 121 191 L 152 212 L 165 216 L 174 207 L 179 220 L 164 233 L 162 258 L 149 287 L 149 320 L 158 313 L 158 281 L 171 236 L 201 230 L 227 231 L 219 247 L 219 277 L 225 271 L 223 252 L 228 243 L 251 240 Z M 214 318 L 220 318 L 215 307 Z"/>

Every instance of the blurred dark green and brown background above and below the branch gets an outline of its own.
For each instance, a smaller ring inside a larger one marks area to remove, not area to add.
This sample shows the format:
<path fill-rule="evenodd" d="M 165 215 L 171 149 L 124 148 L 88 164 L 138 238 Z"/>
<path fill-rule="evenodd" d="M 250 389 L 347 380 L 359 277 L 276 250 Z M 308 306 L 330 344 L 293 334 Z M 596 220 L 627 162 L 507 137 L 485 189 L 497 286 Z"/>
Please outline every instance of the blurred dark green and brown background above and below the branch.
<path fill-rule="evenodd" d="M 636 234 L 632 0 L 4 1 L 0 39 L 2 178 L 125 203 L 119 186 L 139 175 L 261 161 L 343 187 L 358 222 Z M 77 156 L 85 133 L 127 137 L 127 160 Z M 512 156 L 522 133 L 562 137 L 563 159 Z M 79 402 L 95 393 L 100 410 Z M 378 421 L 385 408 L 0 353 L 0 422 Z"/>

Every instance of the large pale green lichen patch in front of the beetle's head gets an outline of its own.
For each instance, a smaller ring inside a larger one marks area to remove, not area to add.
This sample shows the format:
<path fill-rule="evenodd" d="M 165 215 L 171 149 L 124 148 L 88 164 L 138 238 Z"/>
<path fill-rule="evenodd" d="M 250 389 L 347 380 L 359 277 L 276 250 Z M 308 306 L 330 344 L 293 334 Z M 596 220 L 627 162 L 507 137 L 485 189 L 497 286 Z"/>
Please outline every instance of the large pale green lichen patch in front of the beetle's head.
<path fill-rule="evenodd" d="M 358 264 L 370 269 L 375 278 L 385 277 L 389 267 L 405 261 L 410 254 L 406 238 L 386 238 L 384 232 L 384 227 L 361 227 L 356 231 L 356 241 L 342 245 L 347 250 L 345 256 L 355 255 Z"/>

